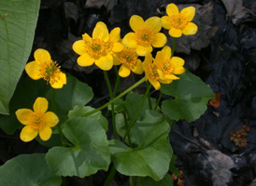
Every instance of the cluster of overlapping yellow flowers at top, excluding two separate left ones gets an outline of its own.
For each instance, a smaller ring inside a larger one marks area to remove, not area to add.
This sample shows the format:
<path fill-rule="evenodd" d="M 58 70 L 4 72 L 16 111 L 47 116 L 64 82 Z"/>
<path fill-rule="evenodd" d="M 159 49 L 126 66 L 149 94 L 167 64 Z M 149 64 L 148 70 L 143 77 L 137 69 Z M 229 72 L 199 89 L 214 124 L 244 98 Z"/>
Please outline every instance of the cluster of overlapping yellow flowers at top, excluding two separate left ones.
<path fill-rule="evenodd" d="M 121 29 L 115 28 L 110 33 L 104 22 L 98 22 L 92 31 L 92 37 L 87 33 L 73 44 L 74 51 L 79 55 L 78 65 L 91 66 L 95 64 L 100 69 L 108 71 L 113 65 L 121 65 L 119 75 L 127 77 L 131 71 L 142 74 L 146 80 L 160 89 L 161 84 L 170 84 L 178 79 L 175 74 L 184 73 L 184 60 L 172 57 L 171 48 L 164 46 L 167 38 L 160 33 L 162 28 L 169 30 L 173 37 L 182 34 L 191 35 L 197 32 L 197 26 L 192 23 L 195 14 L 194 7 L 186 7 L 180 12 L 175 4 L 166 7 L 167 16 L 151 17 L 143 20 L 134 15 L 129 23 L 133 32 L 126 33 L 121 39 Z M 164 47 L 153 59 L 153 47 Z M 142 62 L 139 58 L 144 57 Z"/>

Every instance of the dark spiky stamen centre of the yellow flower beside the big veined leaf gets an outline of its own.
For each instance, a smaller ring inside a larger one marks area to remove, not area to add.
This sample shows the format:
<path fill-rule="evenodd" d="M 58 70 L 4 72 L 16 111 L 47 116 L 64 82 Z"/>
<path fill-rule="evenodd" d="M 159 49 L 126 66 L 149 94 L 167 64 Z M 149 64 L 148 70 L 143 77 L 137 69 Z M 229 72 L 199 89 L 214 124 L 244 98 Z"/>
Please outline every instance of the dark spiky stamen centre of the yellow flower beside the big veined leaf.
<path fill-rule="evenodd" d="M 61 70 L 56 61 L 46 60 L 41 62 L 39 66 L 39 75 L 50 84 L 60 79 Z"/>

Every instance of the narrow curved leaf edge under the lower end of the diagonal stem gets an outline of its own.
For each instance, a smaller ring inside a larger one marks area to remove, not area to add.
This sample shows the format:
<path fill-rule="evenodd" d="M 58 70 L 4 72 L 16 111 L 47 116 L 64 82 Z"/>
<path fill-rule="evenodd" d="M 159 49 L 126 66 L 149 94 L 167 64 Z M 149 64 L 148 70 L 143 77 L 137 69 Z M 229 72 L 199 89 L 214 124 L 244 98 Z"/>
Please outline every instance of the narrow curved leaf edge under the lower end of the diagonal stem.
<path fill-rule="evenodd" d="M 89 113 L 92 112 L 93 109 L 90 106 L 83 106 L 83 105 L 77 105 L 74 107 L 73 110 L 69 111 L 69 113 L 67 114 L 68 118 L 73 118 L 73 117 L 83 117 L 84 113 Z M 96 113 L 92 113 L 91 115 L 87 116 L 88 118 L 94 118 L 96 119 L 101 126 L 107 131 L 108 129 L 108 123 L 107 123 L 107 119 L 101 114 L 100 111 L 96 112 Z"/>

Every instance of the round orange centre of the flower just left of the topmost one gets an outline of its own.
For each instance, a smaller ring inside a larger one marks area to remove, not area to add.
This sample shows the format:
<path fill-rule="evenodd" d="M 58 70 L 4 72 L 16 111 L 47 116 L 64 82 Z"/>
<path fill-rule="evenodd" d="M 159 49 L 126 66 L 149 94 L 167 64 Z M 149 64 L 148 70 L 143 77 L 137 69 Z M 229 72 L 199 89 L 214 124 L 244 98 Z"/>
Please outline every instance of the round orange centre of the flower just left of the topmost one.
<path fill-rule="evenodd" d="M 154 33 L 146 27 L 139 29 L 135 33 L 135 40 L 141 46 L 149 46 L 154 40 Z"/>

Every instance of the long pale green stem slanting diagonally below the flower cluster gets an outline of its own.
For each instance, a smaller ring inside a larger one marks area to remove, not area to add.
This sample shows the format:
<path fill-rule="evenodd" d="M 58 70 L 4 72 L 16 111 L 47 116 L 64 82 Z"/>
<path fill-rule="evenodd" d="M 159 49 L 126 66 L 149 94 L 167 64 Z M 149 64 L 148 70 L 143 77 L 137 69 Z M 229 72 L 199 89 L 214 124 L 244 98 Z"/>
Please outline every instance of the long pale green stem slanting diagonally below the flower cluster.
<path fill-rule="evenodd" d="M 116 98 L 114 98 L 113 100 L 109 100 L 106 104 L 100 106 L 99 108 L 89 112 L 89 113 L 85 113 L 83 116 L 86 117 L 88 115 L 91 115 L 92 113 L 97 113 L 98 111 L 101 111 L 103 109 L 105 109 L 109 104 L 115 102 L 116 100 L 119 100 L 121 97 L 123 97 L 125 94 L 127 94 L 128 92 L 130 92 L 131 90 L 133 90 L 136 86 L 139 86 L 140 84 L 142 84 L 143 82 L 145 82 L 145 77 L 143 77 L 141 80 L 139 80 L 138 82 L 136 82 L 133 86 L 130 86 L 129 88 L 127 88 L 126 90 L 124 90 L 119 96 L 117 96 Z"/>

